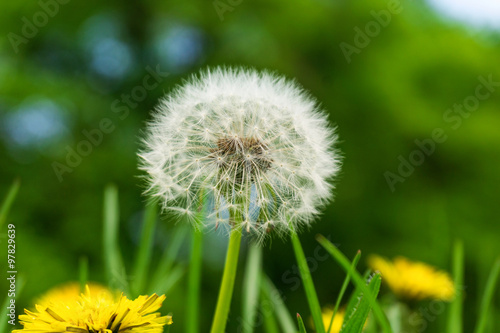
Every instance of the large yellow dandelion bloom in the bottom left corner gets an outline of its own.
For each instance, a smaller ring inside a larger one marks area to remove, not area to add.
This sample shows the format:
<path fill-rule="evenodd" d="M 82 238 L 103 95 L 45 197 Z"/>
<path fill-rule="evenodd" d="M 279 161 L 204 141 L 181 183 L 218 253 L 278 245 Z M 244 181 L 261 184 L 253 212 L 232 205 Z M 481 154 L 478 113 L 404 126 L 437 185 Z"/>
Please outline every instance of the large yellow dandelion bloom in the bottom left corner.
<path fill-rule="evenodd" d="M 56 294 L 57 295 L 57 294 Z M 172 324 L 171 316 L 157 311 L 165 295 L 113 297 L 111 292 L 92 292 L 89 286 L 78 298 L 61 296 L 36 304 L 36 311 L 19 316 L 21 330 L 12 333 L 161 333 Z"/>

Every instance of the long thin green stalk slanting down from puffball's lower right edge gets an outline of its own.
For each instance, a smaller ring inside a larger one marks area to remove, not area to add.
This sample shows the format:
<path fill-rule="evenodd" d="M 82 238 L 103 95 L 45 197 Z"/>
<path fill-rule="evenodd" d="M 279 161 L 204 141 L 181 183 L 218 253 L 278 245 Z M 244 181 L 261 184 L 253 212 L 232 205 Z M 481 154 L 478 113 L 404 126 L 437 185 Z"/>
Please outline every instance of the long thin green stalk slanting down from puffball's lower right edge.
<path fill-rule="evenodd" d="M 304 255 L 304 250 L 300 244 L 299 236 L 293 230 L 291 231 L 291 238 L 295 258 L 297 260 L 297 264 L 299 265 L 300 276 L 302 278 L 302 283 L 304 284 L 304 291 L 306 293 L 307 302 L 309 303 L 309 309 L 311 310 L 316 332 L 325 333 L 325 327 L 323 325 L 323 318 L 321 315 L 321 306 L 318 301 L 316 289 L 314 288 L 311 272 L 309 271 L 309 266 L 307 265 L 306 256 Z"/>

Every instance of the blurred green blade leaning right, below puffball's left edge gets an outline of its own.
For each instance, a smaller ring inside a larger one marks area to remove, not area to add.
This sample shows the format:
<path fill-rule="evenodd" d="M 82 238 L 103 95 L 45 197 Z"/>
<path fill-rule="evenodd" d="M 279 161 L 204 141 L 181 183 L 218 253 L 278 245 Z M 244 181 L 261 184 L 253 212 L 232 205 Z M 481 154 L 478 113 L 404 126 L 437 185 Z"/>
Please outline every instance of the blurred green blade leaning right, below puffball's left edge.
<path fill-rule="evenodd" d="M 156 201 L 149 202 L 144 213 L 144 222 L 141 232 L 138 254 L 134 263 L 132 294 L 139 296 L 145 293 L 144 286 L 148 276 L 151 254 L 153 252 L 154 232 L 158 219 L 158 204 Z"/>

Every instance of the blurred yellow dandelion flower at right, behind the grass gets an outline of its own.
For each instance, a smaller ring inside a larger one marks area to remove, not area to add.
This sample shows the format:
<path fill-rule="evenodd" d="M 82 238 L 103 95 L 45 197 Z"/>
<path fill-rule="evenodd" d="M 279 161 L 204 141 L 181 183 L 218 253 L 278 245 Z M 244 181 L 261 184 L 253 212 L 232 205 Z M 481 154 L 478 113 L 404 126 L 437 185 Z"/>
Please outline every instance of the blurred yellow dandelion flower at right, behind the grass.
<path fill-rule="evenodd" d="M 371 256 L 368 264 L 382 275 L 382 280 L 399 297 L 423 300 L 450 301 L 455 287 L 448 273 L 423 262 L 397 257 L 393 262 L 380 256 Z"/>

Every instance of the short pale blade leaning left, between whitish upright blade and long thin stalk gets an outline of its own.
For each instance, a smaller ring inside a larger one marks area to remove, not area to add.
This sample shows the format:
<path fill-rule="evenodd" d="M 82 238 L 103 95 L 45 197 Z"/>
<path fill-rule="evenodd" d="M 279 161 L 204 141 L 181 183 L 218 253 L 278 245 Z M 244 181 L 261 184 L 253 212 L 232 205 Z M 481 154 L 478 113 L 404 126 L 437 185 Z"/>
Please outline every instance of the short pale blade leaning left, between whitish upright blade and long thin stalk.
<path fill-rule="evenodd" d="M 295 325 L 290 312 L 288 312 L 288 309 L 286 308 L 286 305 L 280 296 L 280 292 L 278 291 L 278 289 L 276 289 L 271 279 L 269 279 L 268 276 L 262 273 L 260 282 L 262 294 L 266 299 L 269 300 L 269 304 L 272 304 L 272 309 L 274 310 L 274 313 L 278 318 L 278 322 L 281 326 L 282 332 L 297 332 L 297 326 Z M 271 315 L 272 313 L 264 313 L 264 316 Z"/>

